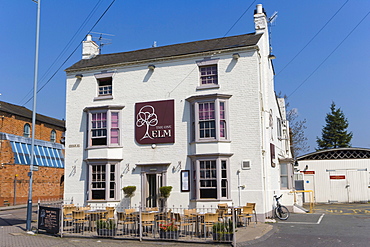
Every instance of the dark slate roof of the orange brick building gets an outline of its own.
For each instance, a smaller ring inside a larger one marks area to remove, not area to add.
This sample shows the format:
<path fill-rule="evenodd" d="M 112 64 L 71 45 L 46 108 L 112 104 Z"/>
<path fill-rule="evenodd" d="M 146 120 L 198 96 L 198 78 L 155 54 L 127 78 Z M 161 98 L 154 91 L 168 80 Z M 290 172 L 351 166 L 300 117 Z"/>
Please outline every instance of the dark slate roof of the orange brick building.
<path fill-rule="evenodd" d="M 26 107 L 13 105 L 4 101 L 0 101 L 0 112 L 6 112 L 17 116 L 32 119 L 32 111 Z M 47 117 L 41 114 L 36 114 L 36 121 L 51 124 L 61 128 L 65 128 L 65 121 L 56 118 Z"/>

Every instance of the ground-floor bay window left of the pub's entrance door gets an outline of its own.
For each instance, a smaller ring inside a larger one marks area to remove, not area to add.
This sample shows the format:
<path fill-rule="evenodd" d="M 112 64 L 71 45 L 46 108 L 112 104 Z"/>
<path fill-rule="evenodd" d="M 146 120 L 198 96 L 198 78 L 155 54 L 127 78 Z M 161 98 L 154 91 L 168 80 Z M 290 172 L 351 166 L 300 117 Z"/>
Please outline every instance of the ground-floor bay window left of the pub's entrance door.
<path fill-rule="evenodd" d="M 117 162 L 89 163 L 89 200 L 116 200 L 118 182 Z"/>

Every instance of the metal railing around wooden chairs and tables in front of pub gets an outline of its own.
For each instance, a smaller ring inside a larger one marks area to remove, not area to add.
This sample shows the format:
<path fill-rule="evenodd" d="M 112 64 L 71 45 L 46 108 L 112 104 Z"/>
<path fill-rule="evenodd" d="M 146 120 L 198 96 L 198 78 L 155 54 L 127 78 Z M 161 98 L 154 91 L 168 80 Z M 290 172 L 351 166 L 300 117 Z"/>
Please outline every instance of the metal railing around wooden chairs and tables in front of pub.
<path fill-rule="evenodd" d="M 235 244 L 235 229 L 251 221 L 240 207 L 130 208 L 40 203 L 60 208 L 61 237 L 225 242 Z"/>

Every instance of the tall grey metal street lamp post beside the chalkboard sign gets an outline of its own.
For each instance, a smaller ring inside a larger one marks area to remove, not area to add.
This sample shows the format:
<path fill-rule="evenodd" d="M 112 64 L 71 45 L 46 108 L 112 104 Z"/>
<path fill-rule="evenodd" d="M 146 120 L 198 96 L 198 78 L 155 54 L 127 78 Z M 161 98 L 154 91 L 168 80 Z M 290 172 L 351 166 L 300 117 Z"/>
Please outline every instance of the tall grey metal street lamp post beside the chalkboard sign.
<path fill-rule="evenodd" d="M 31 162 L 30 162 L 30 185 L 28 191 L 28 202 L 27 202 L 27 221 L 26 230 L 31 231 L 31 220 L 32 220 L 32 179 L 33 179 L 33 162 L 35 160 L 35 131 L 36 131 L 36 95 L 37 95 L 37 76 L 38 76 L 38 64 L 39 64 L 39 36 L 40 36 L 40 5 L 41 0 L 34 1 L 37 3 L 37 21 L 36 21 L 36 51 L 35 51 L 35 70 L 33 80 L 33 109 L 32 109 L 32 142 L 31 142 Z"/>

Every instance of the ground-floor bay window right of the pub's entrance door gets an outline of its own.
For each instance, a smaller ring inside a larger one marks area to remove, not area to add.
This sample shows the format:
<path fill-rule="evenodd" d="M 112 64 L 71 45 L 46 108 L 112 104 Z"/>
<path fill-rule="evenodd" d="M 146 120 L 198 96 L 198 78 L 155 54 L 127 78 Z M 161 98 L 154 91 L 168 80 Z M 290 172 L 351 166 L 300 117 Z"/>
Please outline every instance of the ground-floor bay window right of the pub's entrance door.
<path fill-rule="evenodd" d="M 193 198 L 199 200 L 229 198 L 229 165 L 227 158 L 193 160 Z"/>

